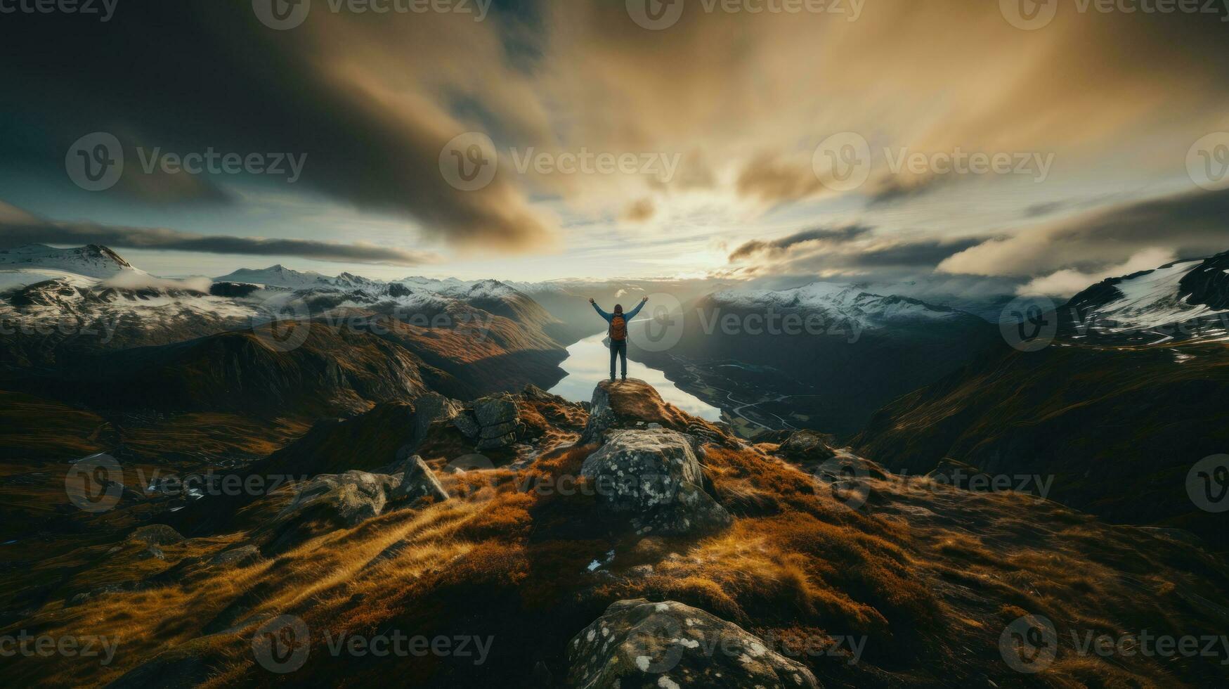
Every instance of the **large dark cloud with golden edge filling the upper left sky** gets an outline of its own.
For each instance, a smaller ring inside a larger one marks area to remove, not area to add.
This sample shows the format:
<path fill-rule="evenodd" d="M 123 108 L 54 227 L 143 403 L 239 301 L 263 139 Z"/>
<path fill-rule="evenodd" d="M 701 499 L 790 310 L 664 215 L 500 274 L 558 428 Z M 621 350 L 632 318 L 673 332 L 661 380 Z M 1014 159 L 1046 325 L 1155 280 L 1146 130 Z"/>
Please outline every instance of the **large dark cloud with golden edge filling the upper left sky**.
<path fill-rule="evenodd" d="M 440 151 L 467 127 L 434 103 L 390 102 L 399 94 L 334 64 L 344 62 L 338 49 L 356 38 L 339 28 L 348 18 L 316 11 L 296 30 L 272 31 L 251 2 L 138 1 L 102 26 L 75 16 L 26 21 L 5 39 L 17 58 L 0 68 L 0 87 L 21 100 L 0 116 L 0 160 L 63 180 L 71 143 L 100 130 L 120 137 L 125 148 L 181 155 L 210 146 L 306 154 L 301 185 L 365 210 L 413 218 L 429 236 L 500 250 L 548 241 L 549 221 L 506 173 L 473 192 L 445 182 Z M 379 32 L 379 23 L 363 18 Z M 399 23 L 419 33 L 424 22 L 440 21 L 412 18 Z M 5 23 L 12 28 L 15 21 Z M 146 188 L 122 183 L 112 192 L 221 201 L 208 181 L 176 177 L 182 180 L 141 178 Z"/>

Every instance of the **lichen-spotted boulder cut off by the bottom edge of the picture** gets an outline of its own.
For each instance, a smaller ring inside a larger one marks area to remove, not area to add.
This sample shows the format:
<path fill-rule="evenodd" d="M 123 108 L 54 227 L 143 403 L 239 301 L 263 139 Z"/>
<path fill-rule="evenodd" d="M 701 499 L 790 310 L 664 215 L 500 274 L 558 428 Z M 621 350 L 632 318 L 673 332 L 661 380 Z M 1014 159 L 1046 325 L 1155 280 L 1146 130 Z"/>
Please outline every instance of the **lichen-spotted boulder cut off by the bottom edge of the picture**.
<path fill-rule="evenodd" d="M 584 689 L 817 689 L 805 666 L 704 610 L 644 598 L 612 603 L 568 642 L 568 680 Z"/>

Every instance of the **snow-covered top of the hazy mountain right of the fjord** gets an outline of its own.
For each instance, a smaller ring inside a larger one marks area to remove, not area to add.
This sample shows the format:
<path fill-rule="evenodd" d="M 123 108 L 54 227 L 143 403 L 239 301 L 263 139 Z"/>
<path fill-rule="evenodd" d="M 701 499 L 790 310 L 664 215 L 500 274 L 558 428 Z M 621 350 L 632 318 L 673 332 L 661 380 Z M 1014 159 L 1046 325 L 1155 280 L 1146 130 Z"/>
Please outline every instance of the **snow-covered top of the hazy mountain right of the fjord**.
<path fill-rule="evenodd" d="M 881 295 L 864 292 L 857 284 L 812 282 L 794 289 L 724 289 L 708 300 L 715 305 L 737 309 L 774 308 L 782 311 L 822 311 L 844 322 L 857 322 L 864 329 L 885 327 L 905 320 L 943 320 L 975 317 L 949 306 L 927 304 L 909 297 Z"/>

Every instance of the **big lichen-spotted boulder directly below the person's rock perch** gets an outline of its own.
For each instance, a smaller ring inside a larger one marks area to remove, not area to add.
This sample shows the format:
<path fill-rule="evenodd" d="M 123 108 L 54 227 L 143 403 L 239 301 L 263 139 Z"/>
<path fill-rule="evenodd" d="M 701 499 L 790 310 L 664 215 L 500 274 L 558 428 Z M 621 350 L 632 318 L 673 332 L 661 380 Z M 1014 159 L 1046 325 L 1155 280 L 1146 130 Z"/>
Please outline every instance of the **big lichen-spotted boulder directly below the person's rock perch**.
<path fill-rule="evenodd" d="M 580 466 L 599 500 L 629 513 L 640 533 L 688 534 L 728 527 L 730 514 L 701 487 L 691 439 L 666 428 L 612 431 Z"/>

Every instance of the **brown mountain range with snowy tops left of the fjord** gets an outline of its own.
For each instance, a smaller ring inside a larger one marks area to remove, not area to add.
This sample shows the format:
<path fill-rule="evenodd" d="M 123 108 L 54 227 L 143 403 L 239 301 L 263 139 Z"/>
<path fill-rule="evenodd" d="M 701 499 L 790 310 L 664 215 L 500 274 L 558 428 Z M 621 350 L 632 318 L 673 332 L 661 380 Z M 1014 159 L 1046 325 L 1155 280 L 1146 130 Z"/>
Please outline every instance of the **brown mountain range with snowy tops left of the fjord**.
<path fill-rule="evenodd" d="M 544 331 L 558 321 L 495 281 L 433 292 L 275 266 L 242 273 L 272 287 L 208 284 L 154 278 L 106 247 L 11 253 L 0 316 L 16 327 L 0 333 L 0 384 L 23 392 L 7 397 L 16 405 L 69 404 L 122 424 L 206 412 L 311 422 L 562 375 L 565 352 Z"/>

